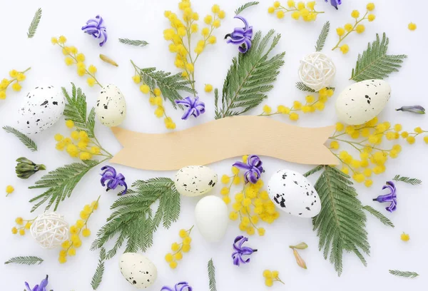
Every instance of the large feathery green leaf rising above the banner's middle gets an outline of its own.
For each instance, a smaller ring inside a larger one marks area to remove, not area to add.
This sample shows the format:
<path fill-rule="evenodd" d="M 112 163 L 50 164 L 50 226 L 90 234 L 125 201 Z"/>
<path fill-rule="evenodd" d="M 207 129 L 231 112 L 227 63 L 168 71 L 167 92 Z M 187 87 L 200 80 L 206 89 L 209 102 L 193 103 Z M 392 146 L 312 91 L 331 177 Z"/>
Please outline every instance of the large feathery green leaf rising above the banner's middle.
<path fill-rule="evenodd" d="M 258 31 L 250 50 L 233 58 L 223 84 L 221 102 L 217 98 L 215 103 L 215 119 L 243 114 L 267 98 L 266 93 L 272 90 L 285 56 L 283 52 L 270 58 L 270 52 L 281 38 L 280 34 L 274 34 L 271 30 L 262 38 Z"/>

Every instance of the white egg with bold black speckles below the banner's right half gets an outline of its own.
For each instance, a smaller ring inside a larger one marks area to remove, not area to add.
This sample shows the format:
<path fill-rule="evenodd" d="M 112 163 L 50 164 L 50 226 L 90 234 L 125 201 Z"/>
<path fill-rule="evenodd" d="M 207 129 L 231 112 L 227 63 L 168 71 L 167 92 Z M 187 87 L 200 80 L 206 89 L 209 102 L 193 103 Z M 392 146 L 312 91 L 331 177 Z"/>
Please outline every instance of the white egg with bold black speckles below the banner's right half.
<path fill-rule="evenodd" d="M 321 200 L 309 180 L 293 170 L 278 170 L 267 185 L 270 200 L 291 215 L 313 218 L 321 211 Z"/>

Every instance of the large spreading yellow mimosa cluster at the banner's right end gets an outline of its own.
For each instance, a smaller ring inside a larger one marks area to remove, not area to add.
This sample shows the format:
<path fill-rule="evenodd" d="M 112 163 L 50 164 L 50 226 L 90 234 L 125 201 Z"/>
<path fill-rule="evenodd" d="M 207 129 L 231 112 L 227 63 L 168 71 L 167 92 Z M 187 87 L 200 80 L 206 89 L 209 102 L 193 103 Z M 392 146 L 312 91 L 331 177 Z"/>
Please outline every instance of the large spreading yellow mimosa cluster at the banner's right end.
<path fill-rule="evenodd" d="M 372 175 L 379 175 L 386 170 L 385 163 L 389 158 L 397 158 L 402 151 L 399 139 L 413 144 L 418 136 L 428 131 L 422 128 L 414 128 L 414 132 L 402 130 L 401 124 L 391 125 L 389 122 L 380 123 L 373 118 L 362 126 L 344 126 L 336 124 L 336 131 L 330 137 L 330 150 L 342 163 L 342 172 L 351 175 L 357 183 L 365 183 L 370 187 L 373 183 Z M 382 147 L 384 140 L 391 141 L 389 147 Z M 428 143 L 428 135 L 424 136 Z M 352 156 L 347 150 L 340 150 L 342 145 L 351 146 L 358 157 Z"/>

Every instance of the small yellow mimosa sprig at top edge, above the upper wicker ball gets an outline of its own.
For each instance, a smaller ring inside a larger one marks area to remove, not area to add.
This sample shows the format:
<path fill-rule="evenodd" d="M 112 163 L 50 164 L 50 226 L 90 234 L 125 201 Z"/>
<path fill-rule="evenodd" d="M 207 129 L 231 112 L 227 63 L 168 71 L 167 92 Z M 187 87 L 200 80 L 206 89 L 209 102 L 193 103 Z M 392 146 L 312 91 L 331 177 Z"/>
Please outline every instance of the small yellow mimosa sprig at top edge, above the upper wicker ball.
<path fill-rule="evenodd" d="M 274 14 L 278 19 L 283 19 L 286 13 L 291 13 L 292 19 L 299 20 L 300 17 L 304 21 L 315 21 L 317 15 L 324 11 L 315 11 L 315 1 L 309 1 L 305 4 L 303 1 L 296 3 L 294 0 L 287 1 L 287 6 L 282 6 L 280 1 L 275 1 L 273 6 L 267 9 L 267 12 Z"/>

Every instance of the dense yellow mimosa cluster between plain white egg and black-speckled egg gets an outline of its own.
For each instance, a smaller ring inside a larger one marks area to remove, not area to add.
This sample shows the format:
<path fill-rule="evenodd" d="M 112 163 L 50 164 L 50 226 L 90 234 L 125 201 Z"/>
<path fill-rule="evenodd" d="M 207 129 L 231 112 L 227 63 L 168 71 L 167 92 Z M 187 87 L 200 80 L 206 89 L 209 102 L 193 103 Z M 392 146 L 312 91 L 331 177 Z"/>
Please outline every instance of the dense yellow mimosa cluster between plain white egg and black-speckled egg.
<path fill-rule="evenodd" d="M 243 163 L 247 163 L 248 156 L 243 156 Z M 270 200 L 266 190 L 263 190 L 263 180 L 258 180 L 257 183 L 244 183 L 244 178 L 240 170 L 232 167 L 233 175 L 223 175 L 221 182 L 225 184 L 220 190 L 223 195 L 223 201 L 226 204 L 231 203 L 230 190 L 233 185 L 243 185 L 242 190 L 234 196 L 233 210 L 229 214 L 230 220 L 240 220 L 239 229 L 245 231 L 248 235 L 254 235 L 257 231 L 258 235 L 265 235 L 265 228 L 260 228 L 257 225 L 261 221 L 265 223 L 273 223 L 280 217 L 275 205 Z M 241 174 L 241 175 L 240 175 Z"/>

